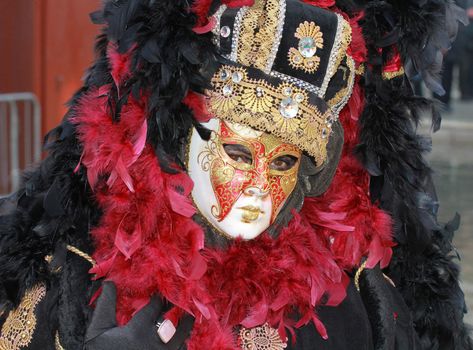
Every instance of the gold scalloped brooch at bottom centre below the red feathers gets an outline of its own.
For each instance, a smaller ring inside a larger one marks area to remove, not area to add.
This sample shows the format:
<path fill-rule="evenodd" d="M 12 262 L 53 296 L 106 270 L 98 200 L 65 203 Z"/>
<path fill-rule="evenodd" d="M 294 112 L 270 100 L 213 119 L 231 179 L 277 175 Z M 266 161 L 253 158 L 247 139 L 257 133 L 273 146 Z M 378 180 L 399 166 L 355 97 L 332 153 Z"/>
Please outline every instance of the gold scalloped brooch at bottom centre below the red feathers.
<path fill-rule="evenodd" d="M 240 341 L 243 350 L 283 350 L 287 347 L 278 331 L 267 323 L 251 329 L 242 328 Z"/>

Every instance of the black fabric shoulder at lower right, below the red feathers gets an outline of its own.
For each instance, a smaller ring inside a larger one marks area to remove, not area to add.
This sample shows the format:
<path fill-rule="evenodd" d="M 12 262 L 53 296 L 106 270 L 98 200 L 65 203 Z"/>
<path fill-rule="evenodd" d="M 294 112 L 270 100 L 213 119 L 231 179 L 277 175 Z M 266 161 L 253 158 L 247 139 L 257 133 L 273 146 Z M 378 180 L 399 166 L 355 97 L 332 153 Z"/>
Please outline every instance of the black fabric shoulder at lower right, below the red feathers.
<path fill-rule="evenodd" d="M 379 268 L 364 270 L 360 292 L 350 283 L 346 299 L 337 307 L 319 307 L 328 339 L 313 324 L 296 330 L 287 350 L 419 350 L 412 317 L 400 293 Z"/>

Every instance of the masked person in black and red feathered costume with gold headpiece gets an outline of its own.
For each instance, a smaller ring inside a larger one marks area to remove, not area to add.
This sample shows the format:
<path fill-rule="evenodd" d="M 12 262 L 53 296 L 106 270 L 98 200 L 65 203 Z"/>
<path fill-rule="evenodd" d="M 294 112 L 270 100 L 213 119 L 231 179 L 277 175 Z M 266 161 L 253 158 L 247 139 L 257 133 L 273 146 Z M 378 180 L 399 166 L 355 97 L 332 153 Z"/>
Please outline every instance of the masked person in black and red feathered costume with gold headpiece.
<path fill-rule="evenodd" d="M 441 89 L 459 18 L 107 2 L 49 157 L 4 203 L 0 349 L 472 348 L 405 78 Z"/>

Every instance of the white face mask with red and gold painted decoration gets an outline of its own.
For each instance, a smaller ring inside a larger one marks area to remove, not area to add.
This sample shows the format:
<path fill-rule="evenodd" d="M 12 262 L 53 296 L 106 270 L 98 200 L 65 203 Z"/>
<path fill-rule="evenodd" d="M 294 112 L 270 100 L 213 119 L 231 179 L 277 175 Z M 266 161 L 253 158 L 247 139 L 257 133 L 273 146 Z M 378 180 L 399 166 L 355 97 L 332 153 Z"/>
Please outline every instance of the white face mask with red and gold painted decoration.
<path fill-rule="evenodd" d="M 197 209 L 219 233 L 249 240 L 276 218 L 297 182 L 298 147 L 217 118 L 204 124 L 209 141 L 192 131 L 187 169 Z"/>

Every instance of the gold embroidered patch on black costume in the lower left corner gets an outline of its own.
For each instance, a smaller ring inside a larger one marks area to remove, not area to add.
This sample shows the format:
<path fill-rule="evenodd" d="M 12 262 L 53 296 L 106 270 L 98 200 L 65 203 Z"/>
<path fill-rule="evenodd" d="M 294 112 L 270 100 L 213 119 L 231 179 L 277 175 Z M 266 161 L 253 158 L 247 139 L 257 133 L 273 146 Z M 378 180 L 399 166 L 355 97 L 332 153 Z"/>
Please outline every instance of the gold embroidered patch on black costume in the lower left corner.
<path fill-rule="evenodd" d="M 1 350 L 19 350 L 28 346 L 36 328 L 35 308 L 46 295 L 44 284 L 38 284 L 26 292 L 20 305 L 12 310 L 2 327 Z"/>

